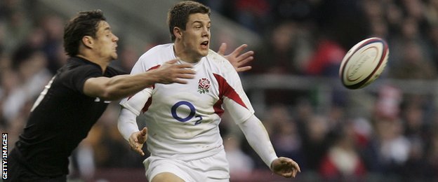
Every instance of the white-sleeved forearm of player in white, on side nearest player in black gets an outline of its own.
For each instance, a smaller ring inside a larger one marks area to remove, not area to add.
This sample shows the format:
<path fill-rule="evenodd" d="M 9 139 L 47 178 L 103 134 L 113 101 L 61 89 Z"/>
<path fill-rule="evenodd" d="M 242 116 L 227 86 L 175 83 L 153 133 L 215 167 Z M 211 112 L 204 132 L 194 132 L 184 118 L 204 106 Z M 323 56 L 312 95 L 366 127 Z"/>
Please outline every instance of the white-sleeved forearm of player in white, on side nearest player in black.
<path fill-rule="evenodd" d="M 137 116 L 128 109 L 121 109 L 119 120 L 117 121 L 117 128 L 126 141 L 128 141 L 133 132 L 139 131 L 137 121 L 135 120 L 136 118 Z"/>

